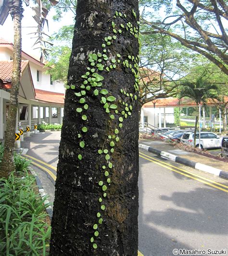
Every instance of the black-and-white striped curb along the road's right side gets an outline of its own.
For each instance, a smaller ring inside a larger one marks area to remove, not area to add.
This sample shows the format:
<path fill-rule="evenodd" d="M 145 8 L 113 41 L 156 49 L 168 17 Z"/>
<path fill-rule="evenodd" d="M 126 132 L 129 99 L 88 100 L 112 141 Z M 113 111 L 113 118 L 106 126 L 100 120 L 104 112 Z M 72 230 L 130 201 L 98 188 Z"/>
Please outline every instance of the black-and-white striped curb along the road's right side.
<path fill-rule="evenodd" d="M 178 163 L 187 165 L 191 168 L 194 168 L 194 169 L 206 172 L 206 173 L 214 174 L 216 176 L 219 176 L 220 178 L 228 179 L 228 172 L 223 171 L 221 169 L 217 169 L 215 167 L 211 167 L 209 165 L 206 165 L 206 164 L 203 164 L 203 163 L 200 163 L 200 162 L 193 162 L 193 161 L 190 161 L 190 160 L 185 159 L 183 157 L 179 157 L 179 156 L 176 156 L 176 155 L 171 154 L 169 152 L 161 151 L 161 150 L 149 147 L 149 146 L 144 145 L 144 144 L 139 144 L 139 148 L 142 148 L 142 149 L 147 150 L 151 153 L 154 153 L 158 156 L 161 156 L 162 158 L 165 158 L 166 160 L 170 160 L 170 161 L 173 161 L 173 162 L 178 162 Z"/>

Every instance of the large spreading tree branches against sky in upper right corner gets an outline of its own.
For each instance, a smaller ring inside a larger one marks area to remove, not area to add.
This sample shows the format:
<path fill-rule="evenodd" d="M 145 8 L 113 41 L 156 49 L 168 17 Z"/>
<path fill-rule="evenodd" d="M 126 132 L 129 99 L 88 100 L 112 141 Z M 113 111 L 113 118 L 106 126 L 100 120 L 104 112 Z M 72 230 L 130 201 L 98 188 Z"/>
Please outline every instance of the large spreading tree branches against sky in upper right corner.
<path fill-rule="evenodd" d="M 142 33 L 169 35 L 208 58 L 228 75 L 227 1 L 141 0 L 141 5 L 144 6 L 142 22 L 151 28 Z M 166 9 L 165 17 L 161 18 L 161 13 L 160 17 L 156 16 L 151 8 Z"/>

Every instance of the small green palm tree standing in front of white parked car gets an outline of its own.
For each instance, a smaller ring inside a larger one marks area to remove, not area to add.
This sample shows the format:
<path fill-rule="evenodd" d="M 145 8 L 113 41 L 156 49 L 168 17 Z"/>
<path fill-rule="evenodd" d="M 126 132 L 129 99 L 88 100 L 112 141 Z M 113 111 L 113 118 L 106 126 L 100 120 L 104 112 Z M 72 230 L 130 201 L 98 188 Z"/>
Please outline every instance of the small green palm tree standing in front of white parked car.
<path fill-rule="evenodd" d="M 182 99 L 184 97 L 190 98 L 195 101 L 198 108 L 201 104 L 205 105 L 206 101 L 211 98 L 217 98 L 216 94 L 217 85 L 213 83 L 208 83 L 203 80 L 203 75 L 196 79 L 195 82 L 186 81 L 180 86 L 180 92 L 178 98 Z M 200 110 L 200 109 L 199 109 Z M 199 113 L 199 112 L 198 112 Z M 194 129 L 194 147 L 196 146 L 196 129 L 199 116 L 196 116 L 195 129 Z M 200 145 L 199 145 L 200 146 Z"/>

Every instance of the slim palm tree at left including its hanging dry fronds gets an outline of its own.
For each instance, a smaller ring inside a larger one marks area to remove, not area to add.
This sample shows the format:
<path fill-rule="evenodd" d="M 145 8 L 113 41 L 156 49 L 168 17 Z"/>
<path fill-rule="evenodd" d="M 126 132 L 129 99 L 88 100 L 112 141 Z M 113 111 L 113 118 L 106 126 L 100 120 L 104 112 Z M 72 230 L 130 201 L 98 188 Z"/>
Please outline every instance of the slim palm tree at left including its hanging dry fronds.
<path fill-rule="evenodd" d="M 56 0 L 50 0 L 51 4 L 54 5 L 57 3 Z M 29 4 L 29 1 L 25 0 L 26 5 Z M 11 84 L 11 92 L 10 92 L 10 106 L 9 106 L 9 114 L 7 119 L 7 130 L 5 133 L 5 142 L 4 142 L 4 153 L 1 162 L 0 168 L 0 177 L 8 177 L 11 172 L 15 169 L 13 163 L 13 150 L 14 150 L 14 134 L 16 127 L 16 115 L 17 115 L 17 106 L 18 106 L 18 93 L 20 86 L 20 77 L 21 77 L 21 20 L 23 17 L 23 8 L 22 8 L 22 0 L 13 0 L 11 3 L 3 2 L 3 5 L 7 6 L 4 9 L 5 13 L 4 17 L 8 16 L 10 13 L 13 18 L 13 28 L 14 28 L 14 42 L 13 42 L 13 74 L 12 74 L 12 84 Z M 38 6 L 33 8 L 36 15 L 34 19 L 38 23 L 38 31 L 34 34 L 37 35 L 37 41 L 35 44 L 38 44 L 41 49 L 41 57 L 40 61 L 42 61 L 43 56 L 47 55 L 47 49 L 45 47 L 45 43 L 49 43 L 48 41 L 43 42 L 43 26 L 47 21 L 47 9 L 42 6 L 41 1 L 38 1 Z M 3 19 L 3 23 L 5 21 Z M 2 24 L 3 24 L 2 23 Z"/>

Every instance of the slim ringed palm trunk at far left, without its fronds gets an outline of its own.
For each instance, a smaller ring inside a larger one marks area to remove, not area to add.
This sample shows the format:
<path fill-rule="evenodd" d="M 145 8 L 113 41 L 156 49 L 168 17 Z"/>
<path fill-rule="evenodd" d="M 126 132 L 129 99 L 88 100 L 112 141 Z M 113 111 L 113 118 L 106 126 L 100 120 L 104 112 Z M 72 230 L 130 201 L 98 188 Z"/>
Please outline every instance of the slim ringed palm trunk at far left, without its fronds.
<path fill-rule="evenodd" d="M 5 133 L 4 153 L 0 168 L 0 177 L 7 177 L 15 170 L 13 163 L 13 149 L 15 142 L 15 127 L 17 115 L 18 93 L 21 77 L 21 19 L 22 19 L 22 1 L 19 0 L 19 6 L 11 12 L 13 16 L 14 46 L 13 46 L 13 74 L 10 92 L 10 108 L 7 119 L 7 129 Z"/>

